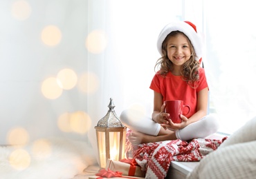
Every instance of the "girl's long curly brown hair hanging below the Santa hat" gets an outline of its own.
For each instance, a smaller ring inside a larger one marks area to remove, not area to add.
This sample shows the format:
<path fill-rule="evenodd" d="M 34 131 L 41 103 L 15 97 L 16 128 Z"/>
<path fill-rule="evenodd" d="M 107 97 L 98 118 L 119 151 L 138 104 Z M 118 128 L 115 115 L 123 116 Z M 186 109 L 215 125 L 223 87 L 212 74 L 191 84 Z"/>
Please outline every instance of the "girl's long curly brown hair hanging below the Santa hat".
<path fill-rule="evenodd" d="M 155 70 L 157 67 L 159 67 L 159 73 L 162 76 L 166 76 L 166 74 L 172 70 L 173 63 L 170 61 L 170 59 L 168 59 L 166 48 L 167 41 L 170 39 L 170 37 L 176 36 L 177 34 L 183 34 L 188 39 L 188 36 L 178 30 L 173 31 L 166 36 L 162 44 L 162 57 L 156 61 L 155 65 Z M 190 39 L 188 39 L 188 43 L 190 45 L 190 51 L 192 52 L 192 55 L 190 56 L 190 59 L 183 64 L 183 68 L 181 68 L 181 75 L 183 76 L 183 81 L 186 81 L 191 87 L 196 87 L 196 82 L 199 81 L 200 63 L 195 59 L 196 54 Z"/>

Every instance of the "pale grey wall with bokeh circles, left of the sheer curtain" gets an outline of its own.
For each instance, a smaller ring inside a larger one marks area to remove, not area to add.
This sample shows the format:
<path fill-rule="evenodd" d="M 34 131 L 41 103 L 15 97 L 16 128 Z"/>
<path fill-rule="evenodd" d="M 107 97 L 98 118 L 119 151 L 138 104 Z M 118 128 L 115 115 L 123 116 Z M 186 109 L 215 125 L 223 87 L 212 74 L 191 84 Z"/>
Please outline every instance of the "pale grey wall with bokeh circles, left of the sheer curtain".
<path fill-rule="evenodd" d="M 0 1 L 0 145 L 49 137 L 89 142 L 88 3 Z"/>

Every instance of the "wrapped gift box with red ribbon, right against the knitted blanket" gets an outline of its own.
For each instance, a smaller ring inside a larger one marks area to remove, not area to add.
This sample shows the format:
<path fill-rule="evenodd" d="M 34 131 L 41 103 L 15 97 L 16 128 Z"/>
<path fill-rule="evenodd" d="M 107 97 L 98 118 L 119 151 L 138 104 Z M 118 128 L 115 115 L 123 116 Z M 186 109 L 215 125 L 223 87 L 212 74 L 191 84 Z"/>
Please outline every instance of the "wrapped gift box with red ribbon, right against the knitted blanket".
<path fill-rule="evenodd" d="M 145 171 L 141 170 L 141 167 L 137 164 L 134 158 L 132 159 L 122 159 L 120 161 L 107 160 L 106 170 L 118 171 L 122 173 L 122 176 L 137 176 L 145 177 Z"/>

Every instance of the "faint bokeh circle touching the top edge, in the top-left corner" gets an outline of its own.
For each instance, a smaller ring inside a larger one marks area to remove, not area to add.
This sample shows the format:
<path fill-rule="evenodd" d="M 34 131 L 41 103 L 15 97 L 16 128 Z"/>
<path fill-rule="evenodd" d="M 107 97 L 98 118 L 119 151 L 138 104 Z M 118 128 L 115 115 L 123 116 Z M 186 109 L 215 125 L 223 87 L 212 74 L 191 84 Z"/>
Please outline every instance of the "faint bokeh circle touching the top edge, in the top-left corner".
<path fill-rule="evenodd" d="M 19 21 L 24 21 L 30 17 L 31 7 L 27 1 L 19 0 L 12 3 L 12 17 Z"/>

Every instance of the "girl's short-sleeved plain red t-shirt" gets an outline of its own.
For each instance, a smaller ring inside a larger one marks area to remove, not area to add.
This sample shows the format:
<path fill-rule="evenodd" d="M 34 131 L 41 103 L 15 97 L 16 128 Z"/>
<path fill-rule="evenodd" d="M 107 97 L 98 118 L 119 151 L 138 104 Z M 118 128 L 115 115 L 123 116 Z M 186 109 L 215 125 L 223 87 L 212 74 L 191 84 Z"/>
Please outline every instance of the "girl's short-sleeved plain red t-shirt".
<path fill-rule="evenodd" d="M 205 87 L 208 87 L 208 83 L 205 71 L 200 67 L 199 82 L 195 88 L 190 87 L 187 82 L 183 81 L 182 76 L 174 76 L 171 72 L 168 72 L 166 76 L 161 76 L 159 72 L 156 72 L 149 88 L 161 93 L 163 102 L 167 100 L 181 100 L 184 105 L 189 105 L 190 113 L 186 117 L 190 118 L 190 116 L 196 113 L 197 92 L 200 92 Z"/>

